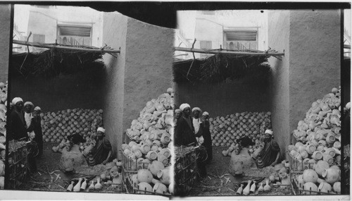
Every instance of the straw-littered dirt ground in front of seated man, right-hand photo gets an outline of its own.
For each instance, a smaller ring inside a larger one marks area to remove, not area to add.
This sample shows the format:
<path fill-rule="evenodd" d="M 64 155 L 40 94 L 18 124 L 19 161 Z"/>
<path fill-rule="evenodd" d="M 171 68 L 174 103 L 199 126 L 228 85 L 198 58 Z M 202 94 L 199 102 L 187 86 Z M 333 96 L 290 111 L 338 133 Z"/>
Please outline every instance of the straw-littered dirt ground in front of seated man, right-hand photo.
<path fill-rule="evenodd" d="M 206 166 L 208 176 L 197 181 L 189 196 L 216 196 L 216 195 L 236 195 L 239 183 L 248 181 L 251 178 L 266 177 L 270 174 L 268 169 L 251 169 L 245 176 L 234 177 L 229 173 L 229 165 L 231 157 L 222 156 L 222 150 L 227 150 L 227 147 L 213 147 L 213 162 Z M 229 180 L 230 179 L 230 180 Z M 229 181 L 227 181 L 229 180 Z M 273 186 L 272 190 L 267 193 L 255 193 L 249 195 L 291 195 L 289 186 Z M 244 196 L 244 195 L 241 195 Z"/>

